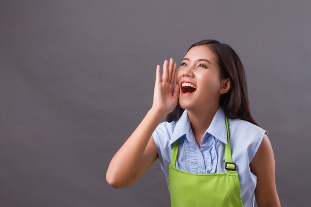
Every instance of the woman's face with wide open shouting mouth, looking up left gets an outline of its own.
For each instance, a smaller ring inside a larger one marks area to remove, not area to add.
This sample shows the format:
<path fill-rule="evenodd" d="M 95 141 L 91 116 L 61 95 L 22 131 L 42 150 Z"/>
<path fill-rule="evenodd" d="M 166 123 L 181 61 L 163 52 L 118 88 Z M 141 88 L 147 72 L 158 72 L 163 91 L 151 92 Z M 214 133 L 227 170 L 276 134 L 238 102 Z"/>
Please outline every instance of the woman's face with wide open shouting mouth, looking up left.
<path fill-rule="evenodd" d="M 184 81 L 192 83 L 196 90 L 187 92 L 181 85 Z M 207 45 L 194 46 L 185 55 L 176 72 L 175 83 L 180 89 L 180 107 L 197 111 L 219 105 L 223 81 L 224 79 L 220 77 L 217 56 Z"/>

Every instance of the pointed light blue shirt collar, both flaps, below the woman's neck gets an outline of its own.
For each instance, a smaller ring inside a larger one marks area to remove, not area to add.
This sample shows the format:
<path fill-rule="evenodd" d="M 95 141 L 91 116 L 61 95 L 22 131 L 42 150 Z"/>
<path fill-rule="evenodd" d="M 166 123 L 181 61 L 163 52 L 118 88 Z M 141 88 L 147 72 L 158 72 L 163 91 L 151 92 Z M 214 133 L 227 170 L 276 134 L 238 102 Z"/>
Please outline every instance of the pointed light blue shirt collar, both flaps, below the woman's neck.
<path fill-rule="evenodd" d="M 216 111 L 209 128 L 205 132 L 205 135 L 206 133 L 213 135 L 215 138 L 227 144 L 227 128 L 225 122 L 225 112 L 222 106 L 219 106 L 218 110 Z M 172 137 L 170 138 L 167 147 L 169 147 L 174 141 L 176 141 L 178 138 L 181 138 L 184 135 L 186 135 L 186 138 L 190 142 L 194 143 L 195 139 L 192 133 L 186 109 L 182 113 L 179 120 L 176 122 Z"/>

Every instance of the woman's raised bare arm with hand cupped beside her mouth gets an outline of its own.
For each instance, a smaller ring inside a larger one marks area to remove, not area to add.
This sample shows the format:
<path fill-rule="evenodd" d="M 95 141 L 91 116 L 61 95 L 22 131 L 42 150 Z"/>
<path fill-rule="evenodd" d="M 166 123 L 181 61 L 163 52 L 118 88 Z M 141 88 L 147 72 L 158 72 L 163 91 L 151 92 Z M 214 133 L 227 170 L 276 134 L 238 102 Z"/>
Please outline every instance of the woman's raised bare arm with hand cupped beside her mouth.
<path fill-rule="evenodd" d="M 156 68 L 154 103 L 133 134 L 113 156 L 106 173 L 106 181 L 114 188 L 125 188 L 133 184 L 158 157 L 152 138 L 157 125 L 171 112 L 178 101 L 179 85 L 173 86 L 177 64 L 170 60 Z"/>

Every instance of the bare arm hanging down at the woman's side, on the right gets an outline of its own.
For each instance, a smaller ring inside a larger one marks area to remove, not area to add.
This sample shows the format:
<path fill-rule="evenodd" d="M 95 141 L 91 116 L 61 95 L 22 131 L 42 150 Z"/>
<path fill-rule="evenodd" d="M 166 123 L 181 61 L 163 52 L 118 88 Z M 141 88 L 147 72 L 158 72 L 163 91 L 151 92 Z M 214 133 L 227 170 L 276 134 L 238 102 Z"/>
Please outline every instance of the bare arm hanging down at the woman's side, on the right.
<path fill-rule="evenodd" d="M 275 184 L 274 154 L 267 135 L 264 135 L 249 166 L 257 176 L 255 198 L 258 207 L 281 207 Z"/>

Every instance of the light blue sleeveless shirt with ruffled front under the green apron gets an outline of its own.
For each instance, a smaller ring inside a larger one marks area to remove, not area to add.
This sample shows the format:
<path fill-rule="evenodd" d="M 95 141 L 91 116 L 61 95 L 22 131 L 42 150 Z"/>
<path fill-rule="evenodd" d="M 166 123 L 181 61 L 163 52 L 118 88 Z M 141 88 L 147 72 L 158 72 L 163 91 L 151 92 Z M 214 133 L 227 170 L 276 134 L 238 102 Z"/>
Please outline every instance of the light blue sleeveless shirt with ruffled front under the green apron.
<path fill-rule="evenodd" d="M 232 159 L 236 163 L 243 207 L 254 207 L 257 176 L 250 171 L 249 163 L 254 157 L 264 134 L 268 136 L 268 133 L 266 130 L 241 119 L 228 120 Z M 187 110 L 184 110 L 177 122 L 160 123 L 152 135 L 166 183 L 172 143 L 177 139 L 179 139 L 177 169 L 196 174 L 226 172 L 227 130 L 225 113 L 221 106 L 202 138 L 201 147 L 197 144 L 192 133 Z M 168 183 L 167 188 L 169 191 Z"/>

